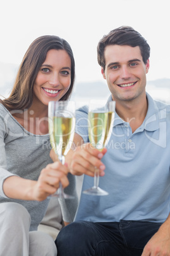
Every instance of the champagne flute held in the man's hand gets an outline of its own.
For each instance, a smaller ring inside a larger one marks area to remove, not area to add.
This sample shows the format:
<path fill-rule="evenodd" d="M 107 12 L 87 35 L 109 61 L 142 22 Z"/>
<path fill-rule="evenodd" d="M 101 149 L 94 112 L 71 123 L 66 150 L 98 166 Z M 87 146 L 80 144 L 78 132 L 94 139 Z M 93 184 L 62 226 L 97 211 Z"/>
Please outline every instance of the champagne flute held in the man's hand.
<path fill-rule="evenodd" d="M 112 134 L 114 113 L 115 101 L 108 101 L 107 104 L 105 104 L 99 99 L 96 99 L 91 100 L 89 103 L 89 141 L 91 142 L 92 146 L 100 151 L 107 145 Z M 84 194 L 92 196 L 108 195 L 108 192 L 98 187 L 99 177 L 99 170 L 95 168 L 94 185 L 93 187 L 84 190 Z"/>

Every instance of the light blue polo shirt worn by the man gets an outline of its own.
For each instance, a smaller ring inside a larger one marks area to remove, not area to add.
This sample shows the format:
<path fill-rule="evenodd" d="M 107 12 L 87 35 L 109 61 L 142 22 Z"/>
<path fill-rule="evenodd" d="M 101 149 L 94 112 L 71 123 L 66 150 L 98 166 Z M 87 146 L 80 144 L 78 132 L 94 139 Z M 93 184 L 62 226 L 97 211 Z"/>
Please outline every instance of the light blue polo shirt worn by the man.
<path fill-rule="evenodd" d="M 108 100 L 112 100 L 112 97 Z M 105 176 L 100 187 L 108 196 L 81 193 L 75 220 L 164 222 L 170 199 L 170 105 L 147 94 L 148 111 L 136 131 L 115 113 L 112 136 L 102 159 Z M 77 110 L 76 130 L 88 142 L 88 107 Z M 82 190 L 93 186 L 84 175 Z"/>

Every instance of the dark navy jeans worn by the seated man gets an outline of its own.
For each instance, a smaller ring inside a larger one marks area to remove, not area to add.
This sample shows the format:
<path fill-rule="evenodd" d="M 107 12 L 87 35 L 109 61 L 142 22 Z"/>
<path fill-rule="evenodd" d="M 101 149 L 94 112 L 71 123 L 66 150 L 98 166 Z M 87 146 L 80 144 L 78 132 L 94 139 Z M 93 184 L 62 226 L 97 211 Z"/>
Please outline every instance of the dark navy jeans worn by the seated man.
<path fill-rule="evenodd" d="M 73 222 L 56 238 L 57 256 L 140 256 L 161 224 L 120 222 Z"/>

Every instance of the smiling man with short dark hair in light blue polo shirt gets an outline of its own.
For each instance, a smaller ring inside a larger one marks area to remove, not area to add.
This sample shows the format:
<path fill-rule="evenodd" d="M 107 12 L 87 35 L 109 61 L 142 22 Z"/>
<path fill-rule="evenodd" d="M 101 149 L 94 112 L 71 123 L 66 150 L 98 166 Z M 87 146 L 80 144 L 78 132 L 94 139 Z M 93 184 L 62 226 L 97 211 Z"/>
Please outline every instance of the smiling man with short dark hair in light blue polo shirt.
<path fill-rule="evenodd" d="M 150 46 L 131 27 L 98 43 L 98 63 L 114 100 L 107 150 L 89 144 L 70 152 L 73 174 L 93 185 L 95 166 L 108 196 L 81 194 L 75 222 L 56 239 L 58 256 L 170 255 L 170 108 L 146 94 Z M 88 143 L 88 109 L 77 111 L 75 143 Z M 104 171 L 105 169 L 105 171 Z"/>

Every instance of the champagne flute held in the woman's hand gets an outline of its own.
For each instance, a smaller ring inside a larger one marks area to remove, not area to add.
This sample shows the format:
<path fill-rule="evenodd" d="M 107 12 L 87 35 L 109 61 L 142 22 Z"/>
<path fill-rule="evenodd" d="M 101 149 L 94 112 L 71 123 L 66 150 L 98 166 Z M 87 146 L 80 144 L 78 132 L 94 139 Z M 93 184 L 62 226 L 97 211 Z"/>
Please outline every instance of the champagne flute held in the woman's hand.
<path fill-rule="evenodd" d="M 48 104 L 48 124 L 50 143 L 58 155 L 58 159 L 65 164 L 65 155 L 69 152 L 75 131 L 75 103 L 74 101 L 50 101 Z M 52 197 L 73 199 L 63 192 L 62 183 Z M 49 196 L 49 197 L 51 197 Z"/>

